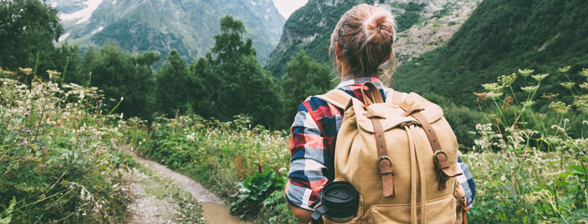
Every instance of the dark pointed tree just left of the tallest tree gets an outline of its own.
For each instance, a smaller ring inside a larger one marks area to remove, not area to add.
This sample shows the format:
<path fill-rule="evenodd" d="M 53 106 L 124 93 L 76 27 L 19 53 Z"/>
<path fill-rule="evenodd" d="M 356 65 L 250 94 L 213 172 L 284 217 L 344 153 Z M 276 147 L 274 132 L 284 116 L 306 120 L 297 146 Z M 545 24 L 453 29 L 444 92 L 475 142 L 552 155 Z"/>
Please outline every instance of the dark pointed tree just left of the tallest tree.
<path fill-rule="evenodd" d="M 176 50 L 169 52 L 157 72 L 157 99 L 159 109 L 167 116 L 185 113 L 190 105 L 190 79 L 186 61 Z"/>

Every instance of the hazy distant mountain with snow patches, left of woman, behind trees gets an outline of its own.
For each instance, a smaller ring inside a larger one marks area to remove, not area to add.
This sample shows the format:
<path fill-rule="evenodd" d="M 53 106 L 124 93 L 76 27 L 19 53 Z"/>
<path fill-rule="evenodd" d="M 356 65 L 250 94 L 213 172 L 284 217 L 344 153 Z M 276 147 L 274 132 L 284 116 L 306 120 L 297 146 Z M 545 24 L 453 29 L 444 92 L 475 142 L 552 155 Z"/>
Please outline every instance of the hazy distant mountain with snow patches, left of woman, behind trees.
<path fill-rule="evenodd" d="M 48 0 L 59 10 L 65 32 L 59 41 L 103 45 L 115 41 L 131 52 L 176 48 L 187 59 L 214 45 L 220 19 L 244 22 L 265 62 L 282 35 L 285 19 L 271 0 Z"/>

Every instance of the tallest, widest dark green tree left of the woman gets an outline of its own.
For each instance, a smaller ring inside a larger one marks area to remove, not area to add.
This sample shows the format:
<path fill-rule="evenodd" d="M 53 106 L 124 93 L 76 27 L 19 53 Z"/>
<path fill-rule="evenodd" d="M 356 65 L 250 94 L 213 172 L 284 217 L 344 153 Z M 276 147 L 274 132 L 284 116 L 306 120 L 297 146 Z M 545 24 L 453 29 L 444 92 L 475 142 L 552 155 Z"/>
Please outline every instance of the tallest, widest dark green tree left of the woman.
<path fill-rule="evenodd" d="M 252 40 L 244 41 L 245 32 L 241 21 L 230 16 L 221 19 L 221 34 L 214 36 L 214 48 L 192 63 L 192 80 L 200 81 L 198 85 L 205 92 L 194 97 L 200 100 L 193 108 L 219 119 L 248 114 L 255 123 L 284 128 L 282 90 L 261 68 Z"/>

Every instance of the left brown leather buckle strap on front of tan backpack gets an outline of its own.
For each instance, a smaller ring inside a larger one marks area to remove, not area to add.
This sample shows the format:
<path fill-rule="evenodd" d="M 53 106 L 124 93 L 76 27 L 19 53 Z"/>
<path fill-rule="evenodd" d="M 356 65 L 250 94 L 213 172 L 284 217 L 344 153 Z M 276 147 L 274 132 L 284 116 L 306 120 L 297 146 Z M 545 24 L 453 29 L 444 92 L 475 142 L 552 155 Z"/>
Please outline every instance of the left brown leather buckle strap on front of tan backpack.
<path fill-rule="evenodd" d="M 374 133 L 376 134 L 376 147 L 378 147 L 378 168 L 380 175 L 382 176 L 382 196 L 385 198 L 392 197 L 394 194 L 394 170 L 392 170 L 392 159 L 388 156 L 388 149 L 386 145 L 386 136 L 382 123 L 380 123 L 380 117 L 374 115 L 369 108 L 367 108 L 365 115 L 371 120 L 371 124 L 374 125 Z"/>

